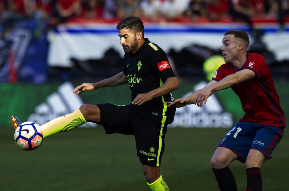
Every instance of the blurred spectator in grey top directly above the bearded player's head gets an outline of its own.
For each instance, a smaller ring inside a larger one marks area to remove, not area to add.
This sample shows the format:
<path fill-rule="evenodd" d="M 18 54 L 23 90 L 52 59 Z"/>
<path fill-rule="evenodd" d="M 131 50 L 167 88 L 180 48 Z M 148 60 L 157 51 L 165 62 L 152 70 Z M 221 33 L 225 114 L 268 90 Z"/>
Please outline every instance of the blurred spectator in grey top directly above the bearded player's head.
<path fill-rule="evenodd" d="M 120 0 L 117 4 L 117 17 L 126 18 L 128 16 L 140 16 L 138 3 L 138 0 Z"/>

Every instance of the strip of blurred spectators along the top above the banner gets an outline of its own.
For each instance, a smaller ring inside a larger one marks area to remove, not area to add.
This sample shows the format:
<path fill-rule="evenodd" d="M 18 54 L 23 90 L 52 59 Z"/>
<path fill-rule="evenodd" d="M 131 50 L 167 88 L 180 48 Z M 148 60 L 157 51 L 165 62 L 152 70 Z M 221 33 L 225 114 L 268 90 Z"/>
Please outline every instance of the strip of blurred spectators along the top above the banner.
<path fill-rule="evenodd" d="M 199 20 L 218 22 L 252 17 L 277 18 L 281 27 L 289 14 L 288 0 L 0 0 L 1 23 L 10 26 L 23 19 L 55 26 L 71 18 L 110 21 L 138 16 L 144 21 Z M 38 26 L 41 28 L 41 26 Z"/>

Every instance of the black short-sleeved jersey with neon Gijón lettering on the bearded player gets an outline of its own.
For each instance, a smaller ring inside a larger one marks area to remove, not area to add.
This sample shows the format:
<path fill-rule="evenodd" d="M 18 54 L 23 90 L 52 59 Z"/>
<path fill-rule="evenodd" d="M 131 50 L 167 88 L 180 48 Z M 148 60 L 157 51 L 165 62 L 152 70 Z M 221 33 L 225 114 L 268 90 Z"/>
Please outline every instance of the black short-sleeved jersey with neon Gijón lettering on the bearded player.
<path fill-rule="evenodd" d="M 139 93 L 147 93 L 160 87 L 167 78 L 175 77 L 168 62 L 166 53 L 149 39 L 134 54 L 125 53 L 125 66 L 123 73 L 127 76 L 129 88 L 131 89 L 131 101 Z M 173 101 L 172 94 L 153 98 L 144 104 L 132 105 L 140 115 L 153 121 L 172 123 L 175 108 L 168 108 L 166 101 Z"/>

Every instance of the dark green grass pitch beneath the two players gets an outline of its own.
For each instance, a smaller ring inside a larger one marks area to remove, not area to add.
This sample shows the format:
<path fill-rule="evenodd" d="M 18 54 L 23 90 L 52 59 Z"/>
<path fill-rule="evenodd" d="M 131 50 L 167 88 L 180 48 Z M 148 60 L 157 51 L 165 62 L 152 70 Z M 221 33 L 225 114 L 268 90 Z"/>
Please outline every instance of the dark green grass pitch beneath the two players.
<path fill-rule="evenodd" d="M 171 191 L 217 189 L 210 158 L 228 129 L 169 128 L 161 174 Z M 288 190 L 289 137 L 284 137 L 261 172 L 263 191 Z M 40 148 L 23 151 L 13 130 L 1 128 L 0 190 L 149 191 L 133 136 L 105 135 L 102 127 L 78 128 L 46 137 Z M 245 190 L 245 165 L 231 166 Z"/>

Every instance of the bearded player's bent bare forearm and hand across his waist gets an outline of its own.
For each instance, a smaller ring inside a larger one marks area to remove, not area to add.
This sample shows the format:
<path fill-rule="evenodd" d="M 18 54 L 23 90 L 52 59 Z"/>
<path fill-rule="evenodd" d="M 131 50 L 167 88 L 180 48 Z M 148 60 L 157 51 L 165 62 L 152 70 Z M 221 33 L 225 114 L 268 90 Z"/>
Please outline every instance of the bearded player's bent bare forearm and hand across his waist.
<path fill-rule="evenodd" d="M 149 91 L 148 93 L 139 93 L 131 104 L 141 105 L 144 102 L 152 100 L 153 98 L 167 95 L 178 88 L 179 82 L 176 77 L 167 78 L 164 84 L 157 89 Z"/>

